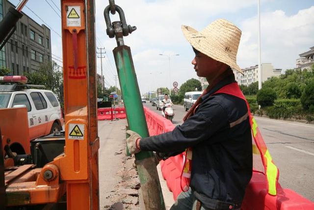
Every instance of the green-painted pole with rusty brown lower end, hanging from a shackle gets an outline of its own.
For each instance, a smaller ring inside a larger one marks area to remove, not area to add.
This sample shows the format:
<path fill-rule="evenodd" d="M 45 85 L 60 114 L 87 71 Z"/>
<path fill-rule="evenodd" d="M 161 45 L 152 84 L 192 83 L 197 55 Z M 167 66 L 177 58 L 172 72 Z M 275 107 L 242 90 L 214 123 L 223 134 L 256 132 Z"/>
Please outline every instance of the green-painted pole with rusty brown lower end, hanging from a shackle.
<path fill-rule="evenodd" d="M 127 112 L 129 129 L 142 138 L 148 137 L 148 127 L 134 70 L 131 49 L 126 45 L 114 48 L 123 102 Z M 154 155 L 151 151 L 135 154 L 135 163 L 146 210 L 165 210 Z"/>

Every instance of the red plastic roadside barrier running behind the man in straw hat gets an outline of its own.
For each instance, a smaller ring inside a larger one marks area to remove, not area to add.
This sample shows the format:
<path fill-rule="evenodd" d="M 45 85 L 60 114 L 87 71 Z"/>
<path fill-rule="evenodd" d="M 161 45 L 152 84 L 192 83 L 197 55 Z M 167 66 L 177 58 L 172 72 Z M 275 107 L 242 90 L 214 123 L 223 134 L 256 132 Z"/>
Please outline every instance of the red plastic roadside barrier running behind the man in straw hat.
<path fill-rule="evenodd" d="M 174 125 L 160 115 L 144 107 L 144 113 L 150 135 L 172 131 Z M 176 200 L 181 193 L 180 177 L 183 168 L 183 153 L 160 161 L 163 179 Z M 182 183 L 184 185 L 184 183 Z M 271 196 L 266 190 L 265 175 L 253 171 L 252 179 L 246 188 L 241 210 L 314 210 L 314 202 L 302 197 L 290 189 L 278 186 L 277 195 Z"/>

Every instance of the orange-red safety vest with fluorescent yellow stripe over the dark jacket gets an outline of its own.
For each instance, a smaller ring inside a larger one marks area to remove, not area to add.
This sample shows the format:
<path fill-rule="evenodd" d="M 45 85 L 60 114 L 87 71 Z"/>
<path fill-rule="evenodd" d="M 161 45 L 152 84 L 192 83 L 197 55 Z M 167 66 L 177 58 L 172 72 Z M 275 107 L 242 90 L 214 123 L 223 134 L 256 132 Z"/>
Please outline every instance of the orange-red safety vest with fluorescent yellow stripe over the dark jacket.
<path fill-rule="evenodd" d="M 257 126 L 256 120 L 253 118 L 250 112 L 249 103 L 245 99 L 245 96 L 243 95 L 237 83 L 231 83 L 229 85 L 226 85 L 222 87 L 221 89 L 217 90 L 216 92 L 212 93 L 212 95 L 218 94 L 218 93 L 225 93 L 225 94 L 233 95 L 235 97 L 243 99 L 246 102 L 251 130 L 252 130 L 253 138 L 257 147 L 257 148 L 253 147 L 253 153 L 256 153 L 256 150 L 258 150 L 259 153 L 261 154 L 262 164 L 264 166 L 265 176 L 266 176 L 266 181 L 267 181 L 267 185 L 266 185 L 267 192 L 270 195 L 276 195 L 278 178 L 279 178 L 279 170 L 276 167 L 276 165 L 273 163 L 270 153 L 267 150 L 266 144 L 262 138 L 262 135 Z M 191 170 L 192 170 L 192 161 L 191 161 L 192 160 L 192 148 L 188 148 L 185 151 L 185 156 L 183 155 L 183 157 L 184 157 L 184 164 L 183 164 L 183 170 L 181 174 L 181 189 L 183 191 L 187 191 L 190 184 L 190 177 L 191 177 Z"/>

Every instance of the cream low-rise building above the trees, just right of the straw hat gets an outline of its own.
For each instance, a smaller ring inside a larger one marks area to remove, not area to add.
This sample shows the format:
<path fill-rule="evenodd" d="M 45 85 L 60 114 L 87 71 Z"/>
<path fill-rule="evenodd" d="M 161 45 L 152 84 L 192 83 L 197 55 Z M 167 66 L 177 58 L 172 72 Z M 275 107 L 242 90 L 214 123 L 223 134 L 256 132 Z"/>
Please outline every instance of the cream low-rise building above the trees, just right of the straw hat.
<path fill-rule="evenodd" d="M 249 86 L 251 83 L 259 81 L 259 65 L 244 68 L 242 71 L 244 75 L 240 72 L 235 73 L 235 80 L 239 85 Z M 282 69 L 274 69 L 271 63 L 262 63 L 262 82 L 273 76 L 279 76 L 281 71 Z"/>

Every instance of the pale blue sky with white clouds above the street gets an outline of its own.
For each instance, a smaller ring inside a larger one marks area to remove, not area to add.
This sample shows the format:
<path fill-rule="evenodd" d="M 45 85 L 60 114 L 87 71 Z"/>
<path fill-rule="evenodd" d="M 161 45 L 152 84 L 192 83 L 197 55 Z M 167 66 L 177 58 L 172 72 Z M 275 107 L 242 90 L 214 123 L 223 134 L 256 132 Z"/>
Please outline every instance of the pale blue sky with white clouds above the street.
<path fill-rule="evenodd" d="M 17 5 L 19 0 L 10 0 Z M 59 13 L 59 0 L 47 0 Z M 61 19 L 46 0 L 28 0 L 27 6 L 49 27 L 61 34 Z M 116 73 L 112 49 L 114 39 L 105 34 L 103 11 L 107 0 L 96 0 L 97 46 L 106 48 L 105 86 L 114 85 Z M 54 4 L 53 4 L 54 3 Z M 137 30 L 125 37 L 132 50 L 134 66 L 141 92 L 168 87 L 177 81 L 179 86 L 190 78 L 197 78 L 191 65 L 193 52 L 184 39 L 181 25 L 202 30 L 212 21 L 224 18 L 242 30 L 237 62 L 245 68 L 258 62 L 257 55 L 257 0 L 115 0 L 124 9 L 127 24 Z M 42 24 L 28 8 L 25 12 Z M 262 62 L 274 68 L 295 67 L 298 54 L 314 46 L 313 0 L 261 0 Z M 112 16 L 111 16 L 112 17 Z M 112 17 L 116 20 L 116 15 Z M 53 31 L 52 58 L 62 65 L 61 38 Z M 180 54 L 171 59 L 171 81 L 168 59 L 158 54 Z M 100 60 L 98 60 L 100 73 Z M 161 72 L 161 74 L 160 74 Z"/>

